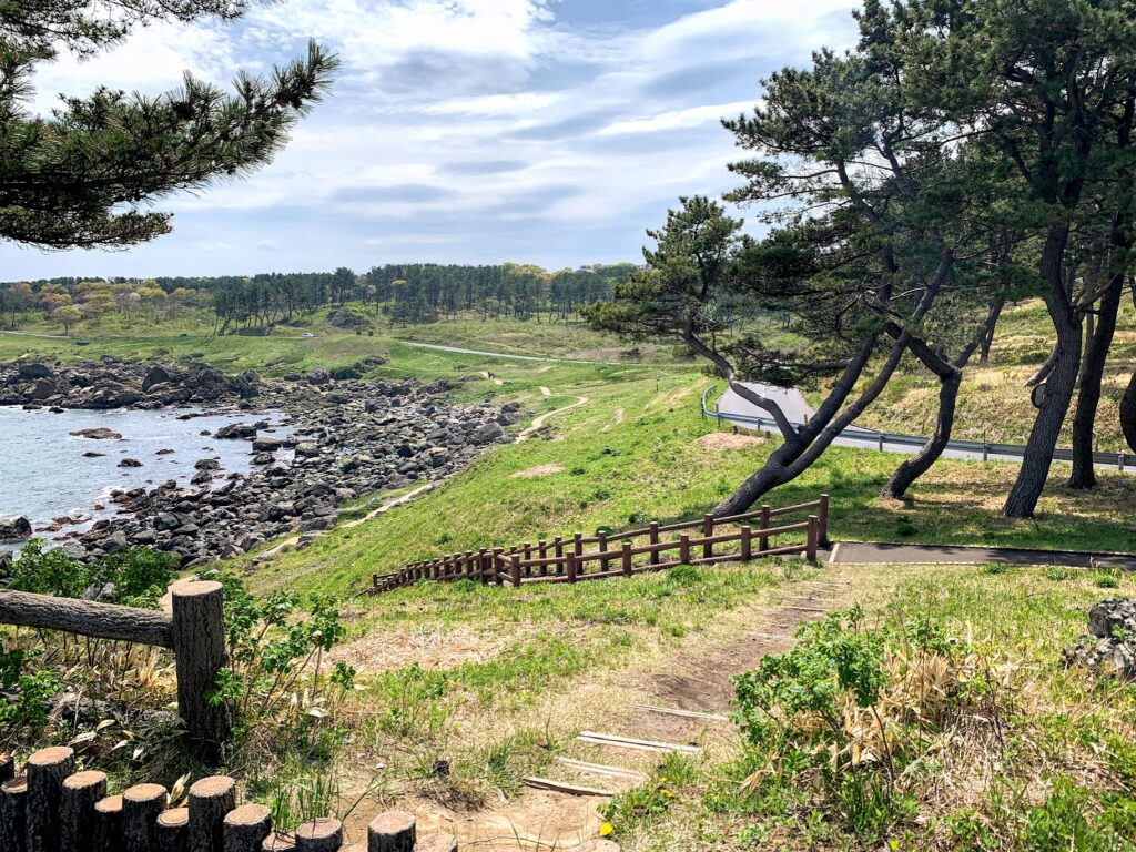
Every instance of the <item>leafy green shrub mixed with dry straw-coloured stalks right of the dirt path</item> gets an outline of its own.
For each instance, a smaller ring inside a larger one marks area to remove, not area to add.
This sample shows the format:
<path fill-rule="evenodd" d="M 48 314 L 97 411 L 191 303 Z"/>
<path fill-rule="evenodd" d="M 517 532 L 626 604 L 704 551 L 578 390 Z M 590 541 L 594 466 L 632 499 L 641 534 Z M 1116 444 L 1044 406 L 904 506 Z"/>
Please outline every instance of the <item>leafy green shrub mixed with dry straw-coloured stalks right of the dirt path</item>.
<path fill-rule="evenodd" d="M 1001 680 L 935 621 L 869 629 L 859 609 L 807 625 L 795 648 L 735 678 L 749 795 L 817 809 L 876 844 L 916 811 L 904 770 L 958 728 L 1004 715 Z M 780 792 L 779 792 L 780 791 Z M 811 791 L 793 803 L 790 791 Z"/>

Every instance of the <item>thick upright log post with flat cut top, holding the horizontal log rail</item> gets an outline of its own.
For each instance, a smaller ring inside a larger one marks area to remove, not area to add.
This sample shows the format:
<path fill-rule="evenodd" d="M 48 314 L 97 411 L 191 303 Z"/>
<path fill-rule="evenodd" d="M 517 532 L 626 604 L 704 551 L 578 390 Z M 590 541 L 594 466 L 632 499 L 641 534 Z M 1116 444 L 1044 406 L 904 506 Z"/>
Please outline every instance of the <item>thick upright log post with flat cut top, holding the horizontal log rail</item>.
<path fill-rule="evenodd" d="M 220 583 L 182 582 L 169 587 L 177 662 L 177 712 L 185 720 L 190 747 L 207 761 L 224 754 L 232 720 L 228 708 L 210 704 L 208 693 L 225 666 L 225 616 Z"/>

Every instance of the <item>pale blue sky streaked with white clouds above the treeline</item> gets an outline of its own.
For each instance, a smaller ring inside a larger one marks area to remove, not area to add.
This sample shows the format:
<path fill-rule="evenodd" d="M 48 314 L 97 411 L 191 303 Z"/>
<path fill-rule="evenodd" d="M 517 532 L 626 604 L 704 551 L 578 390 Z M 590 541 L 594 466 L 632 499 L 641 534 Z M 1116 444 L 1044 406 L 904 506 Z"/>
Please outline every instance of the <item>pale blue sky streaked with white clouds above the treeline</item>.
<path fill-rule="evenodd" d="M 738 159 L 722 117 L 760 80 L 854 40 L 854 0 L 283 0 L 239 23 L 159 24 L 35 78 L 31 109 L 184 72 L 270 72 L 309 39 L 343 67 L 251 178 L 159 200 L 172 234 L 126 251 L 0 242 L 0 278 L 365 272 L 387 262 L 641 260 L 684 194 Z"/>

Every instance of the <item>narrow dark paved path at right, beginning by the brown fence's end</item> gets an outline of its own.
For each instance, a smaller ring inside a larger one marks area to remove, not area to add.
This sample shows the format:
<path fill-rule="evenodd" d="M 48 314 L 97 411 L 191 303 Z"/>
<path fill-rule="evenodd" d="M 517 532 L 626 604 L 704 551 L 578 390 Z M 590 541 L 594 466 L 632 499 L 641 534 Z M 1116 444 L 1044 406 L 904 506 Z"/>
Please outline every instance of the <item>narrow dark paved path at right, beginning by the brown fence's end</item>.
<path fill-rule="evenodd" d="M 1021 548 L 970 548 L 949 544 L 889 544 L 838 542 L 828 557 L 832 565 L 1061 565 L 1069 568 L 1111 566 L 1136 571 L 1136 556 L 1128 553 L 1087 553 L 1064 550 Z"/>

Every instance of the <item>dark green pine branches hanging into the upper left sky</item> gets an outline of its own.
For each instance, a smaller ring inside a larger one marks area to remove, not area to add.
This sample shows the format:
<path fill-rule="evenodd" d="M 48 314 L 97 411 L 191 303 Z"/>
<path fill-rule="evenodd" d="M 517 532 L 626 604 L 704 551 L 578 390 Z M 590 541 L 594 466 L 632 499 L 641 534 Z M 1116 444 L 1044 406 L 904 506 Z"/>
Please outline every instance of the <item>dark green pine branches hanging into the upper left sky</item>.
<path fill-rule="evenodd" d="M 35 67 L 91 56 L 159 20 L 241 16 L 247 0 L 0 0 L 0 239 L 45 249 L 125 247 L 170 229 L 142 206 L 268 162 L 326 91 L 337 60 L 315 42 L 235 91 L 189 74 L 159 97 L 99 86 L 50 116 L 27 107 Z"/>

